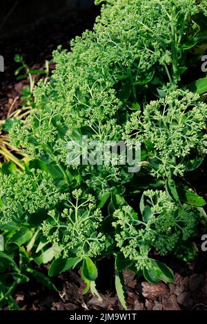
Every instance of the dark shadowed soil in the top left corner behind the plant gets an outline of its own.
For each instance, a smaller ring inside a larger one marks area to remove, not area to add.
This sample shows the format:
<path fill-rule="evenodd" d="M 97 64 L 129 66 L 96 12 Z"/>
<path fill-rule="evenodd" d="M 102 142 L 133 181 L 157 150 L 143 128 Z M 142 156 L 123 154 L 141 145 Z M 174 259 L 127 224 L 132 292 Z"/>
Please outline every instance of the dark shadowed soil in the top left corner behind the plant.
<path fill-rule="evenodd" d="M 69 48 L 71 39 L 91 29 L 99 13 L 99 8 L 92 6 L 90 0 L 16 2 L 17 6 L 2 28 L 0 23 L 0 55 L 5 62 L 5 71 L 0 73 L 0 118 L 6 115 L 12 100 L 21 93 L 22 83 L 17 84 L 14 76 L 19 67 L 14 62 L 14 55 L 21 55 L 30 68 L 41 68 L 46 60 L 52 59 L 52 51 L 58 45 Z M 84 8 L 86 3 L 88 8 Z M 15 1 L 4 0 L 3 4 L 0 21 L 13 8 Z M 54 67 L 51 65 L 51 68 Z"/>

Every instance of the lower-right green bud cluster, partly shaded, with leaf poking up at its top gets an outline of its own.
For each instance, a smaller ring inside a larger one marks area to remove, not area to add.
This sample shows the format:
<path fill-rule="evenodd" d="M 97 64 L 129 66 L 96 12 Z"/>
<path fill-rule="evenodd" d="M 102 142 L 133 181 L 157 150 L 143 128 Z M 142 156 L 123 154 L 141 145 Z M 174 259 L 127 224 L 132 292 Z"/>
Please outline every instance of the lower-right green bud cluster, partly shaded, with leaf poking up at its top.
<path fill-rule="evenodd" d="M 201 219 L 199 212 L 189 205 L 177 206 L 166 192 L 147 190 L 142 196 L 142 221 L 132 207 L 124 205 L 115 211 L 115 239 L 126 259 L 135 261 L 137 271 L 150 269 L 149 254 L 156 249 L 160 255 L 194 234 Z"/>

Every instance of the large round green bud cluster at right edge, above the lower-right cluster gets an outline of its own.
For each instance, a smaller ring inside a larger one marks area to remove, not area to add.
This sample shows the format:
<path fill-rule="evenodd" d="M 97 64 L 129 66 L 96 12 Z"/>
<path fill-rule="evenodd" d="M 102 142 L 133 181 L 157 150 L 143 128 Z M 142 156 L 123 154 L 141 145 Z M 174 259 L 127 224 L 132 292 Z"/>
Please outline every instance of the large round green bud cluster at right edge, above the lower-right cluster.
<path fill-rule="evenodd" d="M 143 112 L 134 112 L 126 123 L 126 139 L 139 139 L 149 149 L 150 172 L 164 178 L 184 176 L 189 159 L 206 154 L 207 106 L 199 95 L 170 90 L 151 101 Z"/>

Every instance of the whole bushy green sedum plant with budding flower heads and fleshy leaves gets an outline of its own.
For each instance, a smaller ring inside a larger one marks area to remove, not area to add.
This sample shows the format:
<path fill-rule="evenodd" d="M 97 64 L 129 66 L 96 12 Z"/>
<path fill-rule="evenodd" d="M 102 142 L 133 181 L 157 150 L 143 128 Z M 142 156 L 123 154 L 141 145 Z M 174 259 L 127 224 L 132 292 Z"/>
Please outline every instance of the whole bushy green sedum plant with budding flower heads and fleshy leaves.
<path fill-rule="evenodd" d="M 93 31 L 72 41 L 70 51 L 55 51 L 50 82 L 34 89 L 35 109 L 10 130 L 10 141 L 30 161 L 24 172 L 11 164 L 1 172 L 0 258 L 10 258 L 3 275 L 17 253 L 27 265 L 16 265 L 17 272 L 50 287 L 32 263 L 50 263 L 50 276 L 77 266 L 84 292 L 100 298 L 97 263 L 111 256 L 126 308 L 124 270 L 170 282 L 172 270 L 161 256 L 195 256 L 206 202 L 190 188 L 188 174 L 206 154 L 207 106 L 199 94 L 207 89 L 198 89 L 200 81 L 184 83 L 183 75 L 204 14 L 206 1 L 110 0 Z M 121 152 L 118 163 L 108 153 L 108 164 L 71 165 L 71 143 L 83 147 L 83 136 L 99 143 L 95 154 L 106 141 L 139 141 L 141 170 L 128 172 Z M 17 283 L 6 285 L 0 305 L 12 307 Z"/>

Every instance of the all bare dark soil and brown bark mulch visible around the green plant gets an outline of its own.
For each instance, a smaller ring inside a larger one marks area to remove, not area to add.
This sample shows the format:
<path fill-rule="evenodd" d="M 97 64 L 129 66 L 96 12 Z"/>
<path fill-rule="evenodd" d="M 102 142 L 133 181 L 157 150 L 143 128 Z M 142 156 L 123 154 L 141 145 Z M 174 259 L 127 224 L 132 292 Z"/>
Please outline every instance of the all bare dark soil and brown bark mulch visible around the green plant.
<path fill-rule="evenodd" d="M 31 24 L 24 30 L 0 39 L 0 53 L 5 58 L 5 72 L 0 74 L 0 118 L 6 118 L 8 110 L 21 105 L 19 96 L 26 81 L 16 81 L 14 54 L 21 54 L 31 68 L 43 67 L 46 59 L 51 59 L 52 50 L 62 44 L 68 47 L 69 39 L 92 28 L 97 10 L 66 12 L 60 10 L 39 23 Z M 54 68 L 53 65 L 50 67 Z M 203 165 L 195 180 L 195 188 L 202 196 L 207 196 L 206 165 Z M 199 242 L 198 242 L 199 248 Z M 125 273 L 128 290 L 128 308 L 131 310 L 207 310 L 207 255 L 199 252 L 192 263 L 182 263 L 176 259 L 164 260 L 175 270 L 173 284 L 151 285 L 137 278 L 132 272 Z M 81 295 L 83 284 L 78 272 L 68 271 L 57 276 L 54 281 L 58 292 L 50 292 L 31 281 L 20 286 L 16 299 L 22 310 L 119 310 L 121 305 L 112 284 L 112 261 L 101 261 L 97 288 L 103 301 L 88 294 Z M 101 270 L 102 269 L 102 270 Z M 101 275 L 101 271 L 104 273 Z M 46 269 L 45 269 L 46 271 Z"/>

